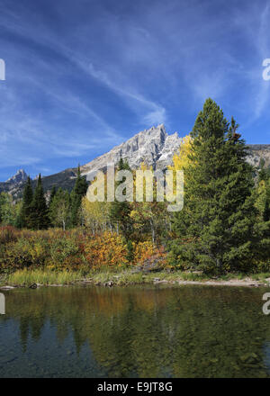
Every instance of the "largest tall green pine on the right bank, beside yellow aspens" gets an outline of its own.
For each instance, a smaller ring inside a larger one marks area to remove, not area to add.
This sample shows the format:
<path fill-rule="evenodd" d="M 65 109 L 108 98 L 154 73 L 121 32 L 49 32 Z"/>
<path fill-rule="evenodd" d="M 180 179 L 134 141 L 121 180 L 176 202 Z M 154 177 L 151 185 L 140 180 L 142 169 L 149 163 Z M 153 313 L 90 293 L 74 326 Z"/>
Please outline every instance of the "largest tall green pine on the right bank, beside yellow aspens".
<path fill-rule="evenodd" d="M 238 125 L 207 99 L 191 136 L 184 168 L 184 209 L 175 213 L 170 257 L 206 272 L 247 270 L 255 255 L 257 211 L 252 167 Z"/>

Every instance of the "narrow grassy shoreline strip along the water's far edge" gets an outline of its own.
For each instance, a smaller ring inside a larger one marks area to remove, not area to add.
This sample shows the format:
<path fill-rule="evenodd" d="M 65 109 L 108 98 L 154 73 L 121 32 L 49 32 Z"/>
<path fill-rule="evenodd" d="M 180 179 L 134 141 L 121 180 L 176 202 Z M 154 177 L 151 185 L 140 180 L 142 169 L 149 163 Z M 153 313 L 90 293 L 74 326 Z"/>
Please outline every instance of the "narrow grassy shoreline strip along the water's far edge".
<path fill-rule="evenodd" d="M 16 273 L 14 273 L 16 275 Z M 206 275 L 197 275 L 193 273 L 166 273 L 158 272 L 152 273 L 134 273 L 134 272 L 122 272 L 122 273 L 98 273 L 93 275 L 86 275 L 85 277 L 76 277 L 74 274 L 72 280 L 66 280 L 64 282 L 58 282 L 58 276 L 61 273 L 54 274 L 55 280 L 51 279 L 50 282 L 42 282 L 41 275 L 43 277 L 48 275 L 48 272 L 37 271 L 22 271 L 23 275 L 28 276 L 27 279 L 23 279 L 18 282 L 12 282 L 12 280 L 2 279 L 0 277 L 0 291 L 13 290 L 17 288 L 31 288 L 36 289 L 39 287 L 67 287 L 67 286 L 102 286 L 102 287 L 123 287 L 129 285 L 166 285 L 166 286 L 184 286 L 184 285 L 205 285 L 205 286 L 234 286 L 234 287 L 267 287 L 270 285 L 270 277 L 266 275 L 254 275 L 257 279 L 250 276 L 242 276 L 239 279 L 239 275 L 226 275 L 227 279 L 217 277 L 211 279 Z M 51 275 L 51 274 L 50 274 Z M 268 274 L 267 274 L 268 275 Z M 13 275 L 10 275 L 11 279 Z M 186 279 L 186 277 L 198 278 L 198 279 Z M 185 279 L 184 279 L 185 278 Z M 201 279 L 200 279 L 201 278 Z"/>

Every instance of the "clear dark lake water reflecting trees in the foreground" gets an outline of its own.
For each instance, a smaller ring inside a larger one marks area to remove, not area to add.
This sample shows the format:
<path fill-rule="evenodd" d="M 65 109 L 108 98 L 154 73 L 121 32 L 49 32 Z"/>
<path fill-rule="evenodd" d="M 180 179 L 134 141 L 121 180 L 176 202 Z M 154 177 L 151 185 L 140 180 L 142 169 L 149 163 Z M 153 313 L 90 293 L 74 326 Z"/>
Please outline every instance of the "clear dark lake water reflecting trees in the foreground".
<path fill-rule="evenodd" d="M 270 377 L 268 289 L 4 292 L 0 377 Z"/>

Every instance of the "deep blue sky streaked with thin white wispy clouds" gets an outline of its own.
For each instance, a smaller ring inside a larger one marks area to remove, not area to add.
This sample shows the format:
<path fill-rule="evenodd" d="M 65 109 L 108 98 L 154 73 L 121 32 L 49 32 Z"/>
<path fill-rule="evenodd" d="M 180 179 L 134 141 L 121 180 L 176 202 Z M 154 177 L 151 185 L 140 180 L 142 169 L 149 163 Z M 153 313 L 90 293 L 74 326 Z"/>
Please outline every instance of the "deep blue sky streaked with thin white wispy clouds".
<path fill-rule="evenodd" d="M 0 180 L 85 164 L 140 130 L 180 136 L 211 96 L 270 143 L 270 1 L 0 3 Z"/>

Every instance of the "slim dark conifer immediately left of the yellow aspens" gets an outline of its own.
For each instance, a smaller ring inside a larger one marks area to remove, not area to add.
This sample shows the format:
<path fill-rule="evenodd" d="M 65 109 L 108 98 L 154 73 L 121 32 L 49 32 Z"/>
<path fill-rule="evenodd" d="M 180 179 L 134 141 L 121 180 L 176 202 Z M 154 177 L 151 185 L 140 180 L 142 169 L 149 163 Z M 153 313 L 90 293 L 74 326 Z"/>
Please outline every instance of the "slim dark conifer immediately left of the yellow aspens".
<path fill-rule="evenodd" d="M 71 224 L 76 227 L 80 223 L 80 208 L 82 198 L 87 192 L 88 184 L 81 175 L 80 166 L 77 167 L 76 184 L 70 194 L 71 199 Z"/>

